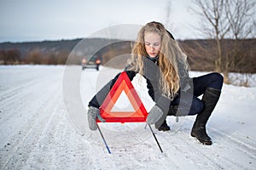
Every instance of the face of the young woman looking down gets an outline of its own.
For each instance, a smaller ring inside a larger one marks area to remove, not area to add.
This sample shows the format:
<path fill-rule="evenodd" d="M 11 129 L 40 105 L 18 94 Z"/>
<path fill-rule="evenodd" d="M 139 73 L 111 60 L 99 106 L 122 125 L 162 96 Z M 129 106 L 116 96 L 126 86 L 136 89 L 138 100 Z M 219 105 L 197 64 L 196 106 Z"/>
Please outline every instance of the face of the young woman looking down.
<path fill-rule="evenodd" d="M 146 32 L 144 36 L 145 48 L 149 57 L 156 57 L 160 52 L 161 37 L 154 32 Z"/>

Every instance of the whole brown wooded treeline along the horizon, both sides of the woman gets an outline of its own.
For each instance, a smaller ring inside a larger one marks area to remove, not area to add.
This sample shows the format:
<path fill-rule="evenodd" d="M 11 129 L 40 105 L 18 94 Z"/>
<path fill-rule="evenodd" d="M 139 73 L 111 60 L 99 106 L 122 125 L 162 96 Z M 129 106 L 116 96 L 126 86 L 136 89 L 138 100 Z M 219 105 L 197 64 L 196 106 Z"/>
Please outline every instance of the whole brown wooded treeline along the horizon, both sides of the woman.
<path fill-rule="evenodd" d="M 190 69 L 192 71 L 214 71 L 218 54 L 214 51 L 214 40 L 185 40 L 178 41 L 183 51 L 188 55 Z M 33 42 L 0 44 L 1 65 L 65 65 L 69 54 L 75 45 L 75 41 L 44 42 L 35 45 Z M 73 64 L 80 64 L 86 56 L 96 55 L 102 59 L 104 65 L 110 59 L 122 54 L 131 53 L 131 41 L 119 41 L 102 45 L 102 39 L 90 39 L 84 41 L 81 50 L 77 51 L 77 59 Z M 106 43 L 106 42 L 105 42 Z M 255 73 L 256 72 L 256 39 L 245 39 L 239 42 L 227 39 L 222 42 L 222 70 L 230 72 Z M 4 45 L 4 46 L 3 46 Z M 228 68 L 228 69 L 227 69 Z"/>

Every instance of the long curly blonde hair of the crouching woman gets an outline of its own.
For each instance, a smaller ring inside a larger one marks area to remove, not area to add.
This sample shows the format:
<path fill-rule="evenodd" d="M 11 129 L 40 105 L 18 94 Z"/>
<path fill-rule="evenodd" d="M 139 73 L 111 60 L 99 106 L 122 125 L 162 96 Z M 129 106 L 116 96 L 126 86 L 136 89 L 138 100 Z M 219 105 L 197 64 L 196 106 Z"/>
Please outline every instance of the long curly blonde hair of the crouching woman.
<path fill-rule="evenodd" d="M 162 94 L 173 99 L 179 89 L 180 77 L 178 75 L 177 62 L 183 63 L 182 69 L 189 69 L 187 55 L 183 53 L 177 42 L 172 39 L 166 28 L 159 22 L 149 22 L 138 32 L 137 41 L 132 47 L 131 58 L 128 64 L 131 70 L 143 75 L 143 57 L 148 56 L 144 36 L 146 33 L 157 33 L 161 37 L 158 65 L 160 68 L 160 89 Z M 180 68 L 179 68 L 180 69 Z"/>

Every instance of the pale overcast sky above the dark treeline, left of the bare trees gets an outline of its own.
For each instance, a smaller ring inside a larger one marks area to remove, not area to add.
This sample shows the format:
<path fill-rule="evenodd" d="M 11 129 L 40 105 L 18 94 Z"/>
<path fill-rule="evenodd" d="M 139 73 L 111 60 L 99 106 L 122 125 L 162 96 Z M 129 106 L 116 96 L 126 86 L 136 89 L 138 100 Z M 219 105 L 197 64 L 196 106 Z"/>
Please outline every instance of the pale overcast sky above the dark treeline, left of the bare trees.
<path fill-rule="evenodd" d="M 0 42 L 84 38 L 109 26 L 152 20 L 166 24 L 168 2 L 174 37 L 199 37 L 190 0 L 0 0 Z"/>

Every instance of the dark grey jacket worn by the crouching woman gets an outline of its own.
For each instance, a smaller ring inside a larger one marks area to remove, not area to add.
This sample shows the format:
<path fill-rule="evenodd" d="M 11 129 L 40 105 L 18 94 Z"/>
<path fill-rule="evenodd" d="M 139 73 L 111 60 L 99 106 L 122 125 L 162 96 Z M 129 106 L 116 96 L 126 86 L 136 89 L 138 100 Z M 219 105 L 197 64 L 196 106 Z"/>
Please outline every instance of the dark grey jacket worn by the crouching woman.
<path fill-rule="evenodd" d="M 183 65 L 178 63 L 178 74 L 180 77 L 180 92 L 187 91 L 189 89 L 189 72 L 183 69 Z M 157 59 L 150 59 L 149 57 L 143 57 L 143 77 L 147 80 L 148 94 L 154 100 L 156 105 L 164 112 L 166 116 L 169 111 L 169 105 L 172 103 L 172 99 L 166 98 L 160 90 L 160 68 L 158 66 Z M 132 81 L 133 77 L 136 76 L 136 71 L 131 71 L 131 66 L 128 65 L 125 67 L 125 72 Z M 95 96 L 90 100 L 89 106 L 94 106 L 99 108 L 104 99 L 107 97 L 108 92 L 113 87 L 114 82 L 118 79 L 119 74 L 113 78 L 108 84 L 106 84 Z M 178 94 L 177 94 L 178 95 Z"/>

